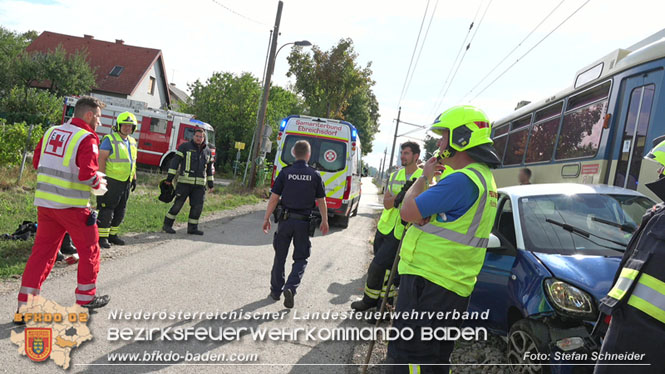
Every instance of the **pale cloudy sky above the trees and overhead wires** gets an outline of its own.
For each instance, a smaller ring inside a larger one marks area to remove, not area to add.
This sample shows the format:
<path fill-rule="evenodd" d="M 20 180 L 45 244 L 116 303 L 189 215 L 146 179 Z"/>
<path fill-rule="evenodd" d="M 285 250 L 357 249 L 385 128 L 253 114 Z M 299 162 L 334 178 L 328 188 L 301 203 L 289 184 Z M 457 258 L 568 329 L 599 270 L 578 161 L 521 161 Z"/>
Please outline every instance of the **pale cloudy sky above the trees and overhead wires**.
<path fill-rule="evenodd" d="M 465 94 L 552 9 L 558 6 L 480 88 L 585 2 L 430 0 L 422 34 L 435 5 L 436 12 L 401 102 L 400 94 L 427 0 L 284 0 L 278 41 L 282 45 L 306 39 L 329 49 L 339 39 L 350 37 L 360 62 L 363 65 L 372 62 L 381 120 L 374 152 L 365 160 L 378 166 L 384 149 L 390 152 L 395 131 L 393 120 L 400 105 L 403 120 L 430 124 L 447 107 L 468 102 L 462 101 Z M 485 9 L 485 18 L 479 24 Z M 276 10 L 275 0 L 0 0 L 0 24 L 21 32 L 91 34 L 101 40 L 123 39 L 126 44 L 161 49 L 169 80 L 185 88 L 187 83 L 204 81 L 215 71 L 249 71 L 260 77 Z M 437 106 L 444 81 L 477 13 L 471 47 L 447 95 Z M 663 14 L 662 1 L 591 0 L 472 104 L 484 109 L 494 120 L 509 114 L 520 100 L 537 101 L 555 94 L 572 85 L 578 70 L 665 28 Z M 421 41 L 422 38 L 423 35 Z M 287 54 L 288 48 L 284 48 L 276 62 L 273 81 L 280 85 L 292 83 L 285 75 Z M 399 132 L 411 129 L 403 127 Z M 425 132 L 412 135 L 422 139 Z"/>

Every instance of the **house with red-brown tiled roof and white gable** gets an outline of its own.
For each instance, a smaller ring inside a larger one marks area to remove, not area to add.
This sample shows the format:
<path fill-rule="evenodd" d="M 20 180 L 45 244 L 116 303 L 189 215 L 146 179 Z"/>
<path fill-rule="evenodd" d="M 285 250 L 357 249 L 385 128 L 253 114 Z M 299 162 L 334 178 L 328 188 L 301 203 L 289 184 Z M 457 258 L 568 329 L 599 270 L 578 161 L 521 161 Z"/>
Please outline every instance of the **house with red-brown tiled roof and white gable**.
<path fill-rule="evenodd" d="M 58 45 L 67 53 L 87 50 L 88 63 L 95 70 L 92 93 L 143 101 L 150 108 L 167 109 L 171 105 L 162 51 L 115 42 L 44 31 L 26 49 L 48 53 Z"/>

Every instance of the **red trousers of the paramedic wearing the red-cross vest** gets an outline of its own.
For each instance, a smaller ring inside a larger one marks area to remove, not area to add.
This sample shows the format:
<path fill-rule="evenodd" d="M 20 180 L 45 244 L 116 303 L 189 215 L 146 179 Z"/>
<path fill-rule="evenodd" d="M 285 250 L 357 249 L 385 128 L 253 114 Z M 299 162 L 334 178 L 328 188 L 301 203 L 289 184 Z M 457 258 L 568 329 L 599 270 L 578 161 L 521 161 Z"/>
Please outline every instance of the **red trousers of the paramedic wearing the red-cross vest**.
<path fill-rule="evenodd" d="M 18 294 L 19 307 L 28 301 L 28 295 L 39 295 L 42 283 L 53 269 L 66 232 L 71 236 L 79 255 L 76 303 L 85 305 L 94 299 L 99 273 L 99 233 L 96 223 L 92 226 L 86 224 L 89 216 L 90 210 L 86 208 L 37 207 L 37 234 L 23 271 Z"/>

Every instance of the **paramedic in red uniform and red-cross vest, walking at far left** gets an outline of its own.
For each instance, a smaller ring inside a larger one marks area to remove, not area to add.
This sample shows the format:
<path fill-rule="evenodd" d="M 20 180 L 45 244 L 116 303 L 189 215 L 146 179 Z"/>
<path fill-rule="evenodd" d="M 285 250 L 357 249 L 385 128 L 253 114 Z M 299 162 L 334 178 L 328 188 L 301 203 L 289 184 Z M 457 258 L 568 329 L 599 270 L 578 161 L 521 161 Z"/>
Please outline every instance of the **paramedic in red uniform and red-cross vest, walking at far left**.
<path fill-rule="evenodd" d="M 58 248 L 69 233 L 78 250 L 76 303 L 101 308 L 109 296 L 97 296 L 99 244 L 96 217 L 90 209 L 90 192 L 99 196 L 106 191 L 106 181 L 98 174 L 99 138 L 95 129 L 104 103 L 83 96 L 74 107 L 74 118 L 51 127 L 35 148 L 33 166 L 37 169 L 37 234 L 32 253 L 25 265 L 18 306 L 28 295 L 39 295 L 42 283 L 56 261 Z M 22 318 L 15 318 L 23 323 Z"/>

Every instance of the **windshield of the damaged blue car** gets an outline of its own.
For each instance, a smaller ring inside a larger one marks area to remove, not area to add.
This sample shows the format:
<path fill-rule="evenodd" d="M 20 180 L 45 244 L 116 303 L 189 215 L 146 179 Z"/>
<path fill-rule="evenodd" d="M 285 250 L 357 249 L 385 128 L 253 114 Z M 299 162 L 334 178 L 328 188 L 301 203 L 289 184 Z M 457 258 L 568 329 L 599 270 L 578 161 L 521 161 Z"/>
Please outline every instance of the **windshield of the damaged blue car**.
<path fill-rule="evenodd" d="M 522 197 L 519 212 L 524 245 L 535 252 L 616 256 L 617 250 L 625 250 L 633 229 L 652 205 L 648 198 L 634 195 Z M 585 238 L 551 221 L 597 236 Z"/>

